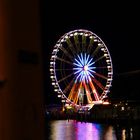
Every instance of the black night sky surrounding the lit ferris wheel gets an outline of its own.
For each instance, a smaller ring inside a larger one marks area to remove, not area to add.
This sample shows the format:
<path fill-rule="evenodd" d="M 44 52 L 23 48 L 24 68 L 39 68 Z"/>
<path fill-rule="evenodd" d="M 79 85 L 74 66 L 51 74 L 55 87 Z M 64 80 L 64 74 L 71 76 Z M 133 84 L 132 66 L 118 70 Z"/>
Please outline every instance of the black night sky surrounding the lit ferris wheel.
<path fill-rule="evenodd" d="M 63 3 L 63 5 L 62 5 Z M 41 2 L 45 102 L 59 103 L 53 92 L 49 62 L 53 46 L 66 32 L 87 29 L 106 44 L 113 62 L 110 98 L 140 99 L 140 9 L 136 3 L 53 0 Z M 131 72 L 131 73 L 127 73 Z"/>

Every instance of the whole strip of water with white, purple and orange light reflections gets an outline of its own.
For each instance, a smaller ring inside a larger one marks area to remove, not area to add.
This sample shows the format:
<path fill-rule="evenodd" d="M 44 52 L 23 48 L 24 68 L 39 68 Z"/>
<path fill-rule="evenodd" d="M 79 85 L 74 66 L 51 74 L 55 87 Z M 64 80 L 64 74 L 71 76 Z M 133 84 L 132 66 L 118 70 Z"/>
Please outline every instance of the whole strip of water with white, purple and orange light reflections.
<path fill-rule="evenodd" d="M 54 120 L 48 123 L 47 140 L 139 140 L 132 127 L 120 127 L 75 120 Z M 135 128 L 135 130 L 139 127 Z M 137 139 L 136 139 L 137 137 Z"/>

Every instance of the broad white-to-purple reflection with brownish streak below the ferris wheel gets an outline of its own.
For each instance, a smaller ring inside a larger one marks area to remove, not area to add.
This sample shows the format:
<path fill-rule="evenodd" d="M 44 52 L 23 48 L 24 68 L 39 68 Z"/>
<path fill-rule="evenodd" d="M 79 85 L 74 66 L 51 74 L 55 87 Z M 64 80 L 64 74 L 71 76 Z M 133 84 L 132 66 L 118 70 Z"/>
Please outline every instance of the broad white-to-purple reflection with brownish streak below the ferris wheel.
<path fill-rule="evenodd" d="M 56 120 L 50 125 L 49 140 L 116 140 L 112 126 L 74 120 Z"/>

